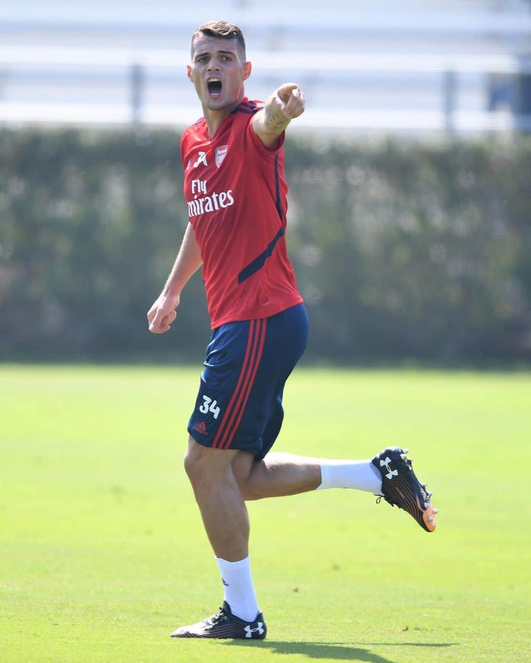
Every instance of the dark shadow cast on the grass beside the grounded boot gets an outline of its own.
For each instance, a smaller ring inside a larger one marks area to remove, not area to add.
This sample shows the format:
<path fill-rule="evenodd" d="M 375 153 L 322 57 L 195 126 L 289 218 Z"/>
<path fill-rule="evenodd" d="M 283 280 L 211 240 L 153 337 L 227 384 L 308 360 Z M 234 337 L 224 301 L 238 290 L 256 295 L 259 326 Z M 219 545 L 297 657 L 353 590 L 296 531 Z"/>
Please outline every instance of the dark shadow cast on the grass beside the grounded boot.
<path fill-rule="evenodd" d="M 265 642 L 249 642 L 245 640 L 230 640 L 225 642 L 228 646 L 259 646 L 261 649 L 270 649 L 272 654 L 304 654 L 308 658 L 332 658 L 342 661 L 365 661 L 367 663 L 394 663 L 390 658 L 373 654 L 368 649 L 350 646 L 350 642 L 280 642 L 279 640 L 266 640 Z M 361 642 L 360 644 L 374 646 L 409 646 L 409 647 L 451 647 L 457 642 Z"/>

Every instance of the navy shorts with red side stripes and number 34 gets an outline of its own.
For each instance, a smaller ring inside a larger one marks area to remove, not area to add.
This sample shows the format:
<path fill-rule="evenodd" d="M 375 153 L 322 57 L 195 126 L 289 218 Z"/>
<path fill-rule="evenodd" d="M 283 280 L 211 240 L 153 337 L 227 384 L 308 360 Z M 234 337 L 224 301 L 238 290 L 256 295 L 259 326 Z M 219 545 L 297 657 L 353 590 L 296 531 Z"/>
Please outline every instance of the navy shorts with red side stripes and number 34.
<path fill-rule="evenodd" d="M 199 444 L 263 458 L 284 418 L 284 383 L 308 338 L 303 304 L 213 330 L 188 432 Z"/>

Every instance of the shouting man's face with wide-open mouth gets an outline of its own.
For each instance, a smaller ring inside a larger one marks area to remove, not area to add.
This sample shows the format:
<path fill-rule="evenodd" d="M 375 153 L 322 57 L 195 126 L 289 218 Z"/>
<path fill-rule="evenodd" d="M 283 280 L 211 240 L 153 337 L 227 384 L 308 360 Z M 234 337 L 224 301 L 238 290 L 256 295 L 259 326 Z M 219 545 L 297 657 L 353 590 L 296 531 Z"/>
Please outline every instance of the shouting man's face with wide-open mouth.
<path fill-rule="evenodd" d="M 204 108 L 235 107 L 244 97 L 243 82 L 251 76 L 251 62 L 243 62 L 236 39 L 198 34 L 192 64 L 186 68 Z"/>

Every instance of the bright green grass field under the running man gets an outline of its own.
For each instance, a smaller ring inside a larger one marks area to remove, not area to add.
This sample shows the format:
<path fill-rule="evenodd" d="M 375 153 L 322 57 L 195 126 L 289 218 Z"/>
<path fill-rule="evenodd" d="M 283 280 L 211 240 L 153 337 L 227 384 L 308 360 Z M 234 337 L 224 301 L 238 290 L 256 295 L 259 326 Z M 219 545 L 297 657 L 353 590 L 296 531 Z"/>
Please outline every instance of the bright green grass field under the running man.
<path fill-rule="evenodd" d="M 174 640 L 222 587 L 182 469 L 198 371 L 0 367 L 0 660 L 531 660 L 531 375 L 300 369 L 276 444 L 410 449 L 438 529 L 367 493 L 249 505 L 264 642 Z"/>

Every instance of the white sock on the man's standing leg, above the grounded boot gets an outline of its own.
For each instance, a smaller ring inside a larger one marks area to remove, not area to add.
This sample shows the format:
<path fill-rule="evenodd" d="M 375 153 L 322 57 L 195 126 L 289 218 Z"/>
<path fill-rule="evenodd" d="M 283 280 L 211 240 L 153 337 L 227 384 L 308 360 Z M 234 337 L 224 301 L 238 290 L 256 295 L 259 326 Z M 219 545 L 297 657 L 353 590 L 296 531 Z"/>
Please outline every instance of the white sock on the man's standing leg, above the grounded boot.
<path fill-rule="evenodd" d="M 251 558 L 239 562 L 227 562 L 219 557 L 215 558 L 221 579 L 225 601 L 230 605 L 231 612 L 245 621 L 255 621 L 258 613 L 257 597 L 251 576 Z"/>

